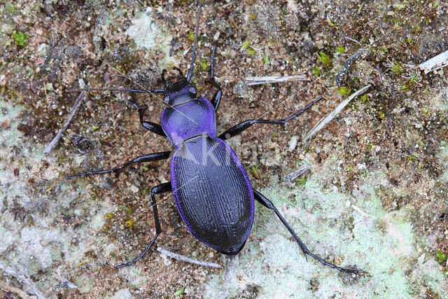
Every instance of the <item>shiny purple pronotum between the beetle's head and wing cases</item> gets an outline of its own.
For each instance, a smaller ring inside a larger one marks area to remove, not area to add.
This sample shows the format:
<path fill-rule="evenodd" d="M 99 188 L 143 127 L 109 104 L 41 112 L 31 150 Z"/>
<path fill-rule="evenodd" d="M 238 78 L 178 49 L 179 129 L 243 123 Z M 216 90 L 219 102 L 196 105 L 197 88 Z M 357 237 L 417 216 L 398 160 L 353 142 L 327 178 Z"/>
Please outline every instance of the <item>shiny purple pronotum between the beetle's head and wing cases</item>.
<path fill-rule="evenodd" d="M 201 134 L 216 137 L 215 109 L 204 97 L 164 109 L 160 123 L 175 148 L 184 140 Z"/>

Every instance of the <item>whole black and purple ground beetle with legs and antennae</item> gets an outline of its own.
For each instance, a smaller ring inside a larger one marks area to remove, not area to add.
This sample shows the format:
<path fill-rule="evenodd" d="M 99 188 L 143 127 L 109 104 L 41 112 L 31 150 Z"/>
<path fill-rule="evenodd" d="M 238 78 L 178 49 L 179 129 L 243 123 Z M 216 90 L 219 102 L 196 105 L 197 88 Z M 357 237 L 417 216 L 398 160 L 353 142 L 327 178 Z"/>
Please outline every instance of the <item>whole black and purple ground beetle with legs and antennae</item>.
<path fill-rule="evenodd" d="M 257 200 L 263 206 L 274 211 L 305 254 L 312 256 L 323 263 L 323 265 L 339 271 L 356 273 L 356 270 L 337 267 L 336 265 L 327 263 L 314 253 L 311 253 L 299 237 L 297 237 L 293 228 L 290 227 L 280 212 L 274 207 L 274 204 L 257 190 L 253 190 L 246 170 L 241 165 L 241 162 L 239 162 L 237 155 L 232 151 L 232 148 L 225 143 L 226 139 L 234 137 L 255 123 L 284 124 L 309 109 L 309 107 L 321 100 L 322 97 L 318 97 L 314 102 L 305 106 L 304 109 L 283 120 L 246 120 L 216 136 L 216 110 L 218 109 L 222 96 L 222 90 L 214 80 L 214 55 L 216 46 L 214 46 L 211 53 L 211 74 L 209 80 L 207 80 L 207 83 L 218 89 L 213 99 L 209 101 L 204 97 L 197 97 L 197 89 L 190 84 L 195 62 L 201 4 L 200 1 L 197 10 L 193 55 L 191 57 L 190 70 L 186 77 L 183 76 L 179 68 L 174 67 L 174 70 L 179 72 L 179 76 L 165 78 L 167 71 L 166 69 L 162 71 L 162 81 L 165 84 L 165 89 L 78 89 L 164 93 L 165 99 L 163 102 L 168 106 L 162 112 L 161 125 L 158 125 L 144 121 L 146 106 L 138 106 L 136 103 L 130 101 L 130 104 L 139 111 L 141 125 L 155 134 L 167 137 L 176 148 L 176 151 L 172 155 L 171 161 L 172 181 L 162 183 L 151 190 L 155 236 L 140 256 L 134 258 L 129 263 L 118 265 L 116 268 L 132 265 L 151 249 L 155 239 L 162 232 L 155 195 L 172 191 L 179 214 L 183 222 L 187 225 L 188 230 L 197 239 L 200 239 L 201 242 L 221 253 L 235 255 L 241 251 L 251 231 L 254 202 Z M 85 172 L 83 174 L 69 176 L 69 179 L 78 176 L 90 176 L 92 174 L 119 172 L 136 162 L 151 162 L 170 158 L 170 153 L 170 151 L 165 151 L 141 155 L 113 169 Z"/>

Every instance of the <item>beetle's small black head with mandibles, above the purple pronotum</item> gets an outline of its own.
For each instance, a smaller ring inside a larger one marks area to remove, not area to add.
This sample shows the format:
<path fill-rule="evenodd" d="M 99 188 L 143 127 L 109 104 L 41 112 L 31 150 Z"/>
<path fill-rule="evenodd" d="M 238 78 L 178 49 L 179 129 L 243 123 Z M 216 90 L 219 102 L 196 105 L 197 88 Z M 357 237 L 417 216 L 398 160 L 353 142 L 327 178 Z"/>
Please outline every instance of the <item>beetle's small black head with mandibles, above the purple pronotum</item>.
<path fill-rule="evenodd" d="M 179 71 L 179 76 L 172 76 L 167 79 L 165 79 L 167 70 L 162 71 L 162 81 L 165 83 L 165 99 L 163 99 L 163 102 L 169 106 L 190 102 L 197 94 L 197 89 L 188 83 L 182 71 L 177 67 L 174 67 L 174 69 Z"/>

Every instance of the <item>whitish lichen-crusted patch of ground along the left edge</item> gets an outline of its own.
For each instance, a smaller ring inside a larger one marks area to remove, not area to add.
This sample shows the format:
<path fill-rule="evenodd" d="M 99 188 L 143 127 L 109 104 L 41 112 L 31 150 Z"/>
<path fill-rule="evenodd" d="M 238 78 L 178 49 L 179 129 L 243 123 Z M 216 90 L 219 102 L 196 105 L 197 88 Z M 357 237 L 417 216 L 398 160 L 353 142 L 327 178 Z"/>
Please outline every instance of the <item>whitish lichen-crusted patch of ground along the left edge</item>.
<path fill-rule="evenodd" d="M 71 188 L 57 157 L 43 155 L 44 146 L 18 130 L 24 110 L 0 98 L 0 123 L 8 124 L 0 130 L 0 264 L 25 267 L 48 295 L 88 260 L 86 251 L 102 249 L 96 235 L 112 208 L 106 201 L 80 202 L 86 187 Z M 77 226 L 70 222 L 76 215 Z M 90 291 L 92 278 L 73 283 Z"/>

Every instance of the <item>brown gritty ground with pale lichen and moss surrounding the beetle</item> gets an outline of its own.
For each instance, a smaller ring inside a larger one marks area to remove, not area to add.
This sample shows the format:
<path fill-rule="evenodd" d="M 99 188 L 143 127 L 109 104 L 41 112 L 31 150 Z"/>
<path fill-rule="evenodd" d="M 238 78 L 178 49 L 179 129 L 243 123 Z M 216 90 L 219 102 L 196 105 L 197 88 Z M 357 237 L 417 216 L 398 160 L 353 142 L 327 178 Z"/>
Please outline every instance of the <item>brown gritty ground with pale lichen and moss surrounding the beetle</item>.
<path fill-rule="evenodd" d="M 300 118 L 255 125 L 229 144 L 253 188 L 274 202 L 308 248 L 359 274 L 305 258 L 258 204 L 246 246 L 225 257 L 188 232 L 171 194 L 158 197 L 163 233 L 151 254 L 115 270 L 155 233 L 148 191 L 170 180 L 169 161 L 120 175 L 67 176 L 172 149 L 141 127 L 126 102 L 147 104 L 147 120 L 158 123 L 162 95 L 88 92 L 55 148 L 43 150 L 80 95 L 71 89 L 162 88 L 162 69 L 186 73 L 197 4 L 10 0 L 0 4 L 3 295 L 448 298 L 448 69 L 425 74 L 417 67 L 448 50 L 447 4 L 204 2 L 193 81 L 211 99 L 215 90 L 204 81 L 218 46 L 218 132 L 249 118 L 289 116 L 323 96 Z M 293 75 L 304 80 L 246 80 Z M 371 86 L 304 141 L 365 85 Z M 304 165 L 306 174 L 284 179 Z M 157 247 L 223 267 L 185 263 Z"/>

